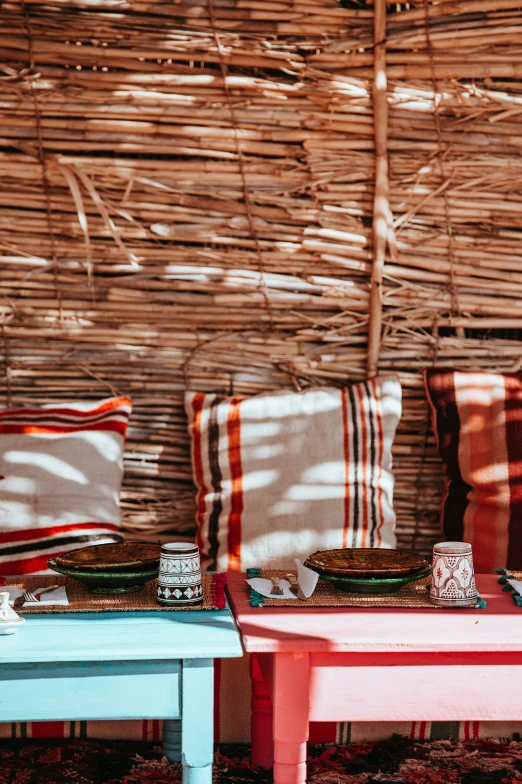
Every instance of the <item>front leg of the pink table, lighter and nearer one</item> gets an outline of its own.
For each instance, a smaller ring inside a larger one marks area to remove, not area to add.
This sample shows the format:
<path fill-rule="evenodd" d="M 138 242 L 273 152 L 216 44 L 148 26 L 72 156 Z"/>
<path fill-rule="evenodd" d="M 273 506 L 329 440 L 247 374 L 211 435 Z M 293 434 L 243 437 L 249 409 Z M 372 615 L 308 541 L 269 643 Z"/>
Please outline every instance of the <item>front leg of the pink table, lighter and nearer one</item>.
<path fill-rule="evenodd" d="M 310 657 L 274 654 L 274 784 L 305 784 L 310 713 Z"/>

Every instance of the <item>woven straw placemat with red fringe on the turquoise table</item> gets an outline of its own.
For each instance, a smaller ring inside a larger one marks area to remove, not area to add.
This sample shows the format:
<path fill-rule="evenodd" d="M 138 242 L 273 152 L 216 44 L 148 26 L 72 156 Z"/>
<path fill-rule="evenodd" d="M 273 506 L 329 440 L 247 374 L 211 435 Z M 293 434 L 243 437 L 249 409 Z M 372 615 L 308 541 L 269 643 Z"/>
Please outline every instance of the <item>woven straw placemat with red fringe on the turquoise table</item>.
<path fill-rule="evenodd" d="M 27 575 L 23 577 L 6 578 L 7 585 L 25 588 L 32 591 L 43 588 L 44 585 L 65 585 L 68 605 L 27 606 L 24 605 L 18 612 L 20 615 L 33 613 L 71 613 L 71 612 L 137 612 L 157 610 L 158 612 L 185 612 L 190 610 L 219 610 L 225 607 L 224 591 L 225 575 L 203 574 L 201 576 L 203 587 L 203 602 L 189 605 L 188 607 L 165 607 L 156 602 L 156 588 L 158 581 L 151 580 L 146 583 L 141 591 L 136 593 L 100 594 L 90 593 L 82 583 L 71 577 L 59 574 Z"/>

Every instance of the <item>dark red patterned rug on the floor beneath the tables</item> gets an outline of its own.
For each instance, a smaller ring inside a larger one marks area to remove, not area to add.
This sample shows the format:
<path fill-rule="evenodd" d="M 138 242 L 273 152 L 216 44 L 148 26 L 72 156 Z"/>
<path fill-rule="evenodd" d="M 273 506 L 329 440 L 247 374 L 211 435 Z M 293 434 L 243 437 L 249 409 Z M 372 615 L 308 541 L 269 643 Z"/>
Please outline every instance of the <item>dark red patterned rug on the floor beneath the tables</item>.
<path fill-rule="evenodd" d="M 397 738 L 345 747 L 315 747 L 309 784 L 511 784 L 522 782 L 520 741 L 431 741 Z M 214 784 L 270 784 L 245 747 L 222 747 Z M 152 743 L 1 741 L 0 784 L 180 784 Z"/>

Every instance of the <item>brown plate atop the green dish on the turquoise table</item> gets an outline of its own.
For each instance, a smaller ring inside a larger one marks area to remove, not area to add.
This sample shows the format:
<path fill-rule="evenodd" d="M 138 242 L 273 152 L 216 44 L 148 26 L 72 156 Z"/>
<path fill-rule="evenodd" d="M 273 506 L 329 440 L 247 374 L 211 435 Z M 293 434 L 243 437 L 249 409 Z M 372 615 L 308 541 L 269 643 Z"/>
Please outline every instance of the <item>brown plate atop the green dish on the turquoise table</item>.
<path fill-rule="evenodd" d="M 55 559 L 58 566 L 67 569 L 89 569 L 100 572 L 129 571 L 136 568 L 156 569 L 159 566 L 160 548 L 155 544 L 122 542 L 120 544 L 95 544 L 71 550 Z"/>

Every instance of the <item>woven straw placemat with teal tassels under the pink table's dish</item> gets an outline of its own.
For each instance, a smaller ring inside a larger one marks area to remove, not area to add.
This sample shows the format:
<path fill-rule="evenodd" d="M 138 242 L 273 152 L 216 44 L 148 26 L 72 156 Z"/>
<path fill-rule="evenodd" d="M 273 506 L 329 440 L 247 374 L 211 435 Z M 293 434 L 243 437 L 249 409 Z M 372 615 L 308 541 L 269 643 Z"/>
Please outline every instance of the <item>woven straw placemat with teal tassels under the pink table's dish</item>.
<path fill-rule="evenodd" d="M 288 574 L 279 569 L 251 569 L 247 572 L 248 577 L 280 577 Z M 345 593 L 332 585 L 328 580 L 319 579 L 317 587 L 309 599 L 270 599 L 261 596 L 257 591 L 251 591 L 251 603 L 254 606 L 263 605 L 265 607 L 426 607 L 431 610 L 440 610 L 432 604 L 428 597 L 428 589 L 431 585 L 431 575 L 422 577 L 411 583 L 403 585 L 395 593 L 390 594 L 359 594 Z M 475 607 L 459 609 L 476 609 L 485 607 L 483 600 Z M 453 608 L 452 608 L 453 609 Z"/>

